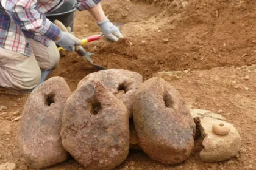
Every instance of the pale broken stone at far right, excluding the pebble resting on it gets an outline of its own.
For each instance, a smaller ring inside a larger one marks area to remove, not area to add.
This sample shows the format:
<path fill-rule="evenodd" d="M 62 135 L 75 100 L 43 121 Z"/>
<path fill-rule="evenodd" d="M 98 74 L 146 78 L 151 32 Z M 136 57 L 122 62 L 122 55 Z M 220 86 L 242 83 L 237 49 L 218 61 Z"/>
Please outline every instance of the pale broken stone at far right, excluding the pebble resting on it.
<path fill-rule="evenodd" d="M 200 158 L 208 163 L 224 161 L 232 158 L 241 148 L 241 137 L 232 124 L 227 123 L 226 118 L 208 110 L 191 109 L 193 117 L 199 119 L 197 125 L 203 138 L 204 149 L 200 152 Z M 217 135 L 213 132 L 213 126 L 223 124 L 230 132 L 227 135 Z"/>

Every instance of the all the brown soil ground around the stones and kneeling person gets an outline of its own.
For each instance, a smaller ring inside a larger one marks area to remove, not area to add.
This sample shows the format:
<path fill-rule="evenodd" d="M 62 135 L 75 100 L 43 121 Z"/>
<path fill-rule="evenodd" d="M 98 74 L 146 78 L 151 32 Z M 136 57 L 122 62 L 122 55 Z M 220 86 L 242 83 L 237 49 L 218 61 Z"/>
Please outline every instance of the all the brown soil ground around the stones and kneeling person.
<path fill-rule="evenodd" d="M 124 38 L 115 43 L 102 38 L 85 45 L 94 53 L 94 63 L 138 72 L 144 80 L 161 71 L 187 70 L 168 81 L 194 109 L 219 112 L 230 120 L 242 138 L 239 154 L 221 163 L 203 163 L 197 141 L 191 157 L 179 165 L 161 165 L 143 152 L 130 151 L 116 169 L 256 169 L 256 67 L 246 66 L 256 64 L 256 2 L 109 0 L 102 4 Z M 79 38 L 101 31 L 88 12 L 78 12 L 74 25 Z M 49 77 L 59 75 L 75 90 L 94 71 L 76 53 L 68 53 Z M 27 97 L 0 94 L 0 105 L 8 107 L 7 114 L 22 112 Z M 17 152 L 17 127 L 18 121 L 0 117 L 0 164 L 14 162 L 16 169 L 30 169 Z M 83 168 L 70 158 L 47 169 Z"/>

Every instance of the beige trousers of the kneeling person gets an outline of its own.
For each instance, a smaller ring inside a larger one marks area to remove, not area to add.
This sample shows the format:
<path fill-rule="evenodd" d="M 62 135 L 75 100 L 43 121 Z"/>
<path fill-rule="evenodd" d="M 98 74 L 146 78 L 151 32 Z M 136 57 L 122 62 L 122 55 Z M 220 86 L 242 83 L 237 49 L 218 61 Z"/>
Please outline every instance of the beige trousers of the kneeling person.
<path fill-rule="evenodd" d="M 30 56 L 0 47 L 0 86 L 8 89 L 29 90 L 41 80 L 41 70 L 49 70 L 59 63 L 56 44 L 51 41 L 46 47 L 34 39 L 27 38 L 32 53 Z"/>

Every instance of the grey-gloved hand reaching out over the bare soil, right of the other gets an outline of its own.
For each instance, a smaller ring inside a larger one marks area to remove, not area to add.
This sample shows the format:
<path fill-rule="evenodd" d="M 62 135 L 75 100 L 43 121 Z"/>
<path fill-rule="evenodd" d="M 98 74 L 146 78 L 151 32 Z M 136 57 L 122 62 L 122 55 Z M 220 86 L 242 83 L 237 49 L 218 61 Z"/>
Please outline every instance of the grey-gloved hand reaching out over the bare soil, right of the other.
<path fill-rule="evenodd" d="M 102 33 L 111 41 L 118 41 L 119 38 L 123 38 L 118 27 L 112 24 L 108 19 L 98 22 L 99 27 L 101 27 Z"/>

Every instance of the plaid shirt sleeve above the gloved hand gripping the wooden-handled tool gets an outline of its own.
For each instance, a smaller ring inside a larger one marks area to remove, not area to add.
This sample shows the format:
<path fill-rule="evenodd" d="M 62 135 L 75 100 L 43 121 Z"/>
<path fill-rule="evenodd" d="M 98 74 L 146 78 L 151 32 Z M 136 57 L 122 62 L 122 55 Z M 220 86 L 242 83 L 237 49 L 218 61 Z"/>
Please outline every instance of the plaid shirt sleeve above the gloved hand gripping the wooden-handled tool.
<path fill-rule="evenodd" d="M 2 0 L 2 7 L 21 29 L 55 39 L 60 29 L 38 10 L 37 0 Z"/>

